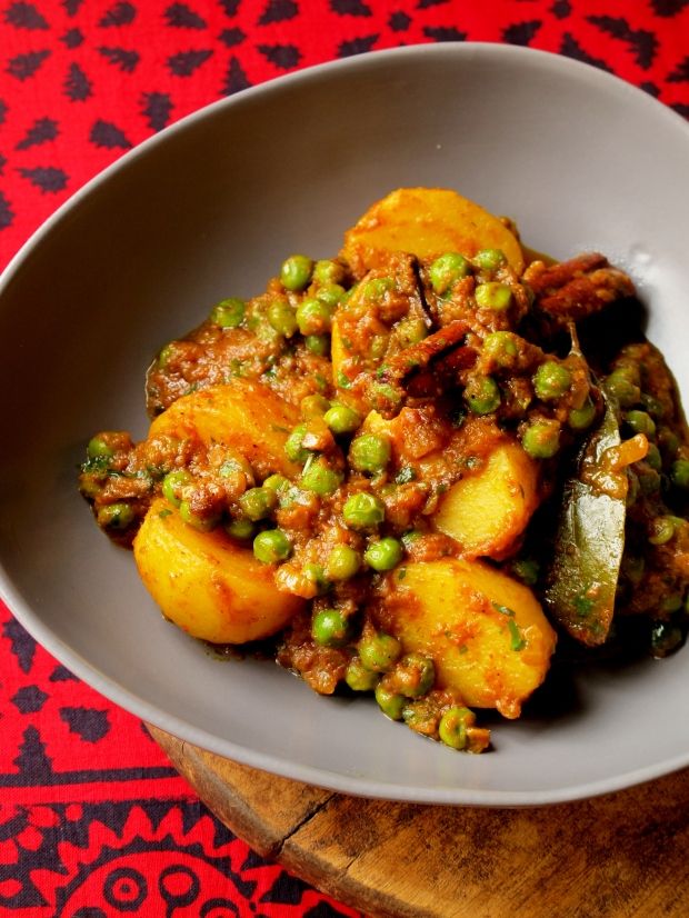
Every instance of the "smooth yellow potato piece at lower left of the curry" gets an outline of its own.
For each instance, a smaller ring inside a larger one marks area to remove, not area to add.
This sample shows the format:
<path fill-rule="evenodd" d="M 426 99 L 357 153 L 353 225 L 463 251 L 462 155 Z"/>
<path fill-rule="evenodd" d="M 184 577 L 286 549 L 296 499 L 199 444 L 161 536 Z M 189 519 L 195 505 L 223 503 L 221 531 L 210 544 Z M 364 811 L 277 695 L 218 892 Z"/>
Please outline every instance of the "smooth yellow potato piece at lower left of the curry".
<path fill-rule="evenodd" d="M 199 532 L 159 499 L 133 543 L 139 573 L 163 616 L 194 638 L 246 643 L 274 635 L 302 600 L 279 592 L 274 568 L 222 529 Z"/>

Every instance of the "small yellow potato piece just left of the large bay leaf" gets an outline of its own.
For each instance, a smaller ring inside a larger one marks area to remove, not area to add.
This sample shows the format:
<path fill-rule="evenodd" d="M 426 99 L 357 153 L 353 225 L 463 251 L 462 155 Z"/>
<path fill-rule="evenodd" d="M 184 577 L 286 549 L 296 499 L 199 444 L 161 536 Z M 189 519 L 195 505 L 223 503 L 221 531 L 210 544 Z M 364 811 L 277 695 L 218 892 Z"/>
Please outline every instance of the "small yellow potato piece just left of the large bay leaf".
<path fill-rule="evenodd" d="M 498 445 L 476 475 L 448 490 L 432 521 L 462 555 L 507 557 L 539 505 L 539 467 L 517 442 Z"/>

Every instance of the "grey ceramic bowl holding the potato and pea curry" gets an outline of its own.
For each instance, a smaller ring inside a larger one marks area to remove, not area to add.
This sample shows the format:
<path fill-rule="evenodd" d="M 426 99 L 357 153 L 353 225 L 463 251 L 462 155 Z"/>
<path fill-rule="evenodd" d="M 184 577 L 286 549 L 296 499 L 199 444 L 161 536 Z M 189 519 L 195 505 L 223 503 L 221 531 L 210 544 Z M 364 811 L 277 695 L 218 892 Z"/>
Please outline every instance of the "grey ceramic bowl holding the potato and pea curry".
<path fill-rule="evenodd" d="M 166 623 L 77 493 L 90 433 L 146 431 L 154 351 L 293 250 L 334 253 L 398 186 L 456 188 L 556 257 L 627 268 L 689 398 L 689 128 L 598 70 L 448 44 L 314 68 L 218 102 L 126 156 L 0 286 L 2 596 L 73 672 L 163 729 L 337 790 L 442 804 L 575 799 L 689 764 L 689 648 L 589 670 L 458 755 L 319 698 L 269 662 L 220 662 Z"/>

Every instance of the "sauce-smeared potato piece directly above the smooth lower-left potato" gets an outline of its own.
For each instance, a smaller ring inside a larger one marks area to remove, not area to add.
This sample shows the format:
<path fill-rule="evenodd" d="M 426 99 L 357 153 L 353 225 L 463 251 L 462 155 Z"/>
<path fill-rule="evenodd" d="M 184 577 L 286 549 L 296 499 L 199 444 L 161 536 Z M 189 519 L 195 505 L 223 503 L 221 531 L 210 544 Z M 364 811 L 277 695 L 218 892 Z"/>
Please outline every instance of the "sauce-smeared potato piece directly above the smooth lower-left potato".
<path fill-rule="evenodd" d="M 240 452 L 261 478 L 296 476 L 300 468 L 284 455 L 284 442 L 299 411 L 260 382 L 236 379 L 200 389 L 174 401 L 151 423 L 149 438 L 167 433 Z"/>

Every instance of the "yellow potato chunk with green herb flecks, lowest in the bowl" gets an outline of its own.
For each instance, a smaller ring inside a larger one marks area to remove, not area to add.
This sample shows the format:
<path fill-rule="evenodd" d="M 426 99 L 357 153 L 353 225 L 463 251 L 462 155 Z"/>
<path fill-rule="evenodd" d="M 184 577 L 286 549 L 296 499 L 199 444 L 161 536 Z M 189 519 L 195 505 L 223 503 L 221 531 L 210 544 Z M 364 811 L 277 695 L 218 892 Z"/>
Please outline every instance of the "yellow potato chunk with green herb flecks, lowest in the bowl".
<path fill-rule="evenodd" d="M 431 657 L 436 685 L 466 704 L 519 717 L 543 681 L 556 635 L 527 587 L 483 561 L 443 558 L 389 576 L 386 627 Z"/>

